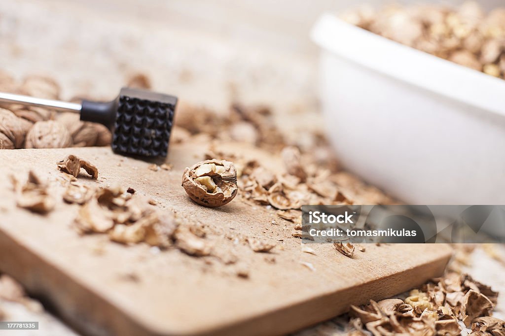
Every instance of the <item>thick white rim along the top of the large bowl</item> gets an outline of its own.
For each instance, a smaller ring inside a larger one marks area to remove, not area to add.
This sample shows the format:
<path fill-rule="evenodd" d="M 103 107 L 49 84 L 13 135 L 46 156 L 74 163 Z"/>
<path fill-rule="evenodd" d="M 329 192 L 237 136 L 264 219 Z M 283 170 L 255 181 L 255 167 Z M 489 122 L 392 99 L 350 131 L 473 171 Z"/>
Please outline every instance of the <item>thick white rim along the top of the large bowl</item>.
<path fill-rule="evenodd" d="M 389 40 L 332 13 L 320 16 L 311 39 L 347 61 L 505 117 L 503 79 Z"/>

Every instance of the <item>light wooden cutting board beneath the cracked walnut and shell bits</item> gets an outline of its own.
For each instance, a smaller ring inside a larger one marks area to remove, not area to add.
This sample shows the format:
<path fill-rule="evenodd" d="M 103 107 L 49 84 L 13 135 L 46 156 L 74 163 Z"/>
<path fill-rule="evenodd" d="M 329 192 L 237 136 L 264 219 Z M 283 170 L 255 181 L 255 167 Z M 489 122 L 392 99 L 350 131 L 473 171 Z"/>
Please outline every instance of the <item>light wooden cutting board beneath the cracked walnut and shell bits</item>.
<path fill-rule="evenodd" d="M 215 209 L 193 203 L 180 186 L 181 175 L 203 158 L 208 144 L 207 139 L 172 144 L 165 161 L 173 169 L 158 172 L 147 168 L 150 162 L 113 154 L 110 148 L 0 150 L 0 271 L 79 331 L 93 335 L 286 333 L 442 273 L 451 255 L 444 244 L 369 245 L 352 259 L 331 244 L 313 244 L 312 255 L 300 251 L 300 240 L 291 236 L 293 224 L 277 218 L 275 209 L 240 199 Z M 277 157 L 254 148 L 227 147 L 271 169 L 280 165 Z M 68 154 L 98 166 L 98 181 L 83 174 L 83 183 L 119 182 L 134 188 L 138 197 L 154 198 L 161 210 L 175 209 L 182 218 L 206 223 L 213 249 L 225 257 L 236 255 L 237 263 L 144 244 L 125 246 L 104 235 L 79 236 L 71 227 L 77 205 L 58 201 L 45 216 L 16 207 L 9 175 L 26 179 L 34 170 L 61 200 L 64 187 L 56 162 Z M 272 253 L 255 253 L 233 237 L 267 237 L 278 246 Z M 238 265 L 248 269 L 248 278 L 236 275 Z"/>

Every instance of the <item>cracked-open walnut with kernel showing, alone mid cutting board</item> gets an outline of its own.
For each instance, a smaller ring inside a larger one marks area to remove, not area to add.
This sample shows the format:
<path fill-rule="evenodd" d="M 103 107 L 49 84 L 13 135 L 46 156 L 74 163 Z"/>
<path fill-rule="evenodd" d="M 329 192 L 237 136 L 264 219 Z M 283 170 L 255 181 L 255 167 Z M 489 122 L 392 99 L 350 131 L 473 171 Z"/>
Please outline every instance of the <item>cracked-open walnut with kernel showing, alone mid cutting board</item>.
<path fill-rule="evenodd" d="M 182 187 L 198 204 L 223 206 L 237 195 L 237 170 L 230 161 L 201 161 L 186 168 L 182 175 Z"/>

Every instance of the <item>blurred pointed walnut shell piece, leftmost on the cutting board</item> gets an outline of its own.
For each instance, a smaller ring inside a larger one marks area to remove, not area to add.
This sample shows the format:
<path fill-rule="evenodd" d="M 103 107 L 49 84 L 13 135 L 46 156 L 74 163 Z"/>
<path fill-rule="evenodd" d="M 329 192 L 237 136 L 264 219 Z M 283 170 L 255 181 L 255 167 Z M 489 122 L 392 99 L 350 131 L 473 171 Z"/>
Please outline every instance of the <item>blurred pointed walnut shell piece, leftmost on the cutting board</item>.
<path fill-rule="evenodd" d="M 20 186 L 15 179 L 13 184 L 19 207 L 40 214 L 45 214 L 55 207 L 55 200 L 48 193 L 47 185 L 43 184 L 32 171 L 28 173 L 28 181 L 24 186 Z"/>

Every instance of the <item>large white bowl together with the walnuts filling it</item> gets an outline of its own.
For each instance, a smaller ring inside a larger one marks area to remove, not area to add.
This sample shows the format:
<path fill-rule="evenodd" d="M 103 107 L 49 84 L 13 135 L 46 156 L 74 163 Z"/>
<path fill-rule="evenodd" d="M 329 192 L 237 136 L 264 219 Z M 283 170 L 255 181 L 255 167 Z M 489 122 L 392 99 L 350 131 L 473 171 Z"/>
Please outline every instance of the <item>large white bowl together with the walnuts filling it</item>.
<path fill-rule="evenodd" d="M 505 8 L 361 7 L 312 39 L 348 169 L 411 204 L 505 202 Z"/>

